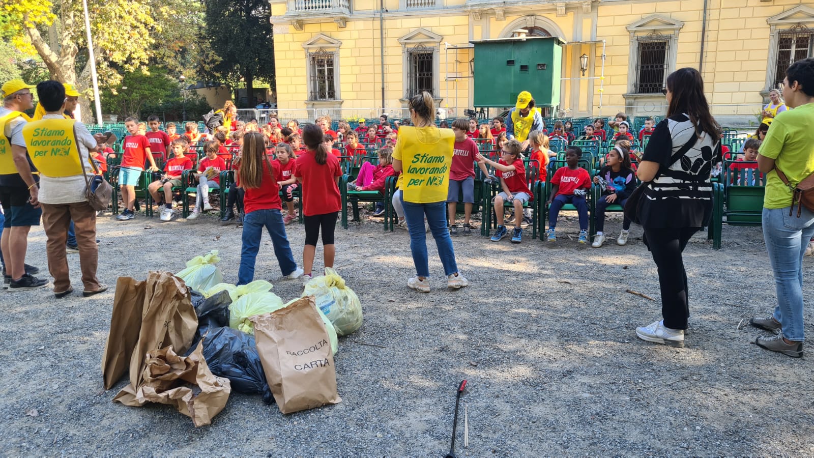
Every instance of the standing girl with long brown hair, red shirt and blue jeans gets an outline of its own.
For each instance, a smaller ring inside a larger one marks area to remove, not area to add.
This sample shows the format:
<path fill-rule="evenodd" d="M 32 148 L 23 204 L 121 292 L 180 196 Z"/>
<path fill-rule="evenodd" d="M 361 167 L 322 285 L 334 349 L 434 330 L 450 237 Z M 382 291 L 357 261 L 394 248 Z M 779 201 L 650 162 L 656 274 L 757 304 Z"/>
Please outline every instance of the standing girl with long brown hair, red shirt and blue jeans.
<path fill-rule="evenodd" d="M 263 227 L 271 236 L 274 255 L 277 256 L 282 275 L 288 280 L 299 278 L 303 275 L 303 270 L 297 267 L 291 254 L 286 227 L 282 224 L 280 214 L 280 187 L 274 179 L 274 168 L 269 156 L 265 154 L 265 138 L 260 132 L 247 132 L 243 136 L 237 182 L 245 190 L 243 211 L 246 212 L 243 217 L 243 248 L 240 252 L 238 284 L 254 280 L 255 261 L 260 250 Z"/>

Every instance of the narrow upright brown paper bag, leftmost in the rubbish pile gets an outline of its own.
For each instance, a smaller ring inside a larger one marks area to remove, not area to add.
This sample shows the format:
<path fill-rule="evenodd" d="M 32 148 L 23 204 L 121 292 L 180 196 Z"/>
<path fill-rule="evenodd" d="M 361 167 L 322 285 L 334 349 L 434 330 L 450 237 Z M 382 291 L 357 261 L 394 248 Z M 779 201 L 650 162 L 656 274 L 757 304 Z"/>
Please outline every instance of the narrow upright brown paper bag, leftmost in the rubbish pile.
<path fill-rule="evenodd" d="M 125 374 L 130 364 L 130 355 L 138 342 L 142 329 L 142 307 L 144 305 L 144 282 L 130 277 L 119 277 L 116 282 L 116 298 L 113 299 L 113 313 L 110 319 L 110 333 L 102 356 L 102 377 L 104 389 L 110 390 Z"/>

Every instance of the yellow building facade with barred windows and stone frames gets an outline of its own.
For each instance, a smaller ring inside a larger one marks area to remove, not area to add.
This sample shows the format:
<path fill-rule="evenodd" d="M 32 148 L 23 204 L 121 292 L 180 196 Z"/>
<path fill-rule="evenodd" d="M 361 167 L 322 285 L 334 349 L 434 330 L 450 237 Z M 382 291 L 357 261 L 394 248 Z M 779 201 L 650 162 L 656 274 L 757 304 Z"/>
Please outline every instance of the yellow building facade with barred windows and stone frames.
<path fill-rule="evenodd" d="M 694 67 L 714 114 L 744 121 L 790 62 L 814 55 L 814 2 L 799 0 L 270 3 L 282 118 L 401 117 L 417 90 L 463 116 L 473 108 L 471 42 L 527 34 L 565 42 L 554 114 L 661 115 L 664 78 Z"/>

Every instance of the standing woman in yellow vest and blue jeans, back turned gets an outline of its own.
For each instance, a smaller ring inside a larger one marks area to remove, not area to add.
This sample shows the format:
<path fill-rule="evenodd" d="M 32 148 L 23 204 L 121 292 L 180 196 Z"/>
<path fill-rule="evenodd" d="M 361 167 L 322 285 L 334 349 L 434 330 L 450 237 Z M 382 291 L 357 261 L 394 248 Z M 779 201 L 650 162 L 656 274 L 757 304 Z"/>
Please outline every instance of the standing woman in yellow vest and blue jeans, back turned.
<path fill-rule="evenodd" d="M 407 286 L 422 293 L 430 292 L 426 216 L 447 275 L 447 287 L 463 288 L 468 282 L 458 273 L 446 217 L 455 134 L 435 127 L 435 103 L 426 91 L 409 99 L 409 114 L 413 126 L 401 126 L 393 151 L 393 170 L 402 173 L 401 205 L 418 274 L 407 280 Z"/>

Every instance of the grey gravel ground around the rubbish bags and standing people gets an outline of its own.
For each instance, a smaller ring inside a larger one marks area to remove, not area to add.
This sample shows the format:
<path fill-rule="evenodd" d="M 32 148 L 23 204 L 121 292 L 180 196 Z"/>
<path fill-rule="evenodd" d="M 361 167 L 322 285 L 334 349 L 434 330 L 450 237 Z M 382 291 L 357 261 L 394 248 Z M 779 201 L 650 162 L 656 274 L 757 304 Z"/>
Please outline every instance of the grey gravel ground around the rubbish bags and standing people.
<path fill-rule="evenodd" d="M 618 216 L 609 215 L 609 231 L 618 230 Z M 107 284 L 119 275 L 180 271 L 215 248 L 225 280 L 237 280 L 240 230 L 214 217 L 103 217 L 98 227 Z M 720 251 L 702 236 L 690 242 L 685 349 L 633 332 L 660 310 L 640 228 L 628 246 L 602 249 L 578 246 L 570 218 L 558 229 L 573 240 L 455 239 L 470 281 L 459 291 L 445 288 L 430 243 L 434 290 L 421 294 L 405 286 L 414 275 L 405 231 L 370 222 L 338 228 L 336 265 L 365 310 L 362 328 L 339 340 L 343 402 L 282 416 L 258 396 L 232 394 L 212 425 L 199 429 L 173 407 L 112 403 L 126 377 L 103 390 L 112 289 L 63 300 L 50 289 L 2 293 L 2 454 L 441 456 L 449 450 L 455 389 L 466 378 L 461 414 L 464 403 L 472 407 L 470 447 L 462 447 L 461 419 L 458 455 L 814 455 L 810 358 L 760 349 L 752 342 L 761 331 L 747 324 L 775 303 L 759 228 L 724 227 Z M 288 234 L 299 262 L 303 228 Z M 283 300 L 298 296 L 300 282 L 280 279 L 265 240 L 257 278 L 272 281 Z M 28 250 L 28 262 L 46 271 L 41 229 L 32 231 Z M 78 282 L 77 255 L 69 256 Z M 810 279 L 814 260 L 806 261 Z M 804 294 L 814 294 L 810 280 Z M 805 319 L 814 331 L 811 307 Z"/>

